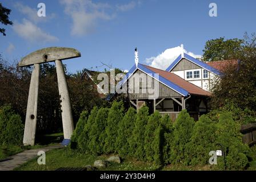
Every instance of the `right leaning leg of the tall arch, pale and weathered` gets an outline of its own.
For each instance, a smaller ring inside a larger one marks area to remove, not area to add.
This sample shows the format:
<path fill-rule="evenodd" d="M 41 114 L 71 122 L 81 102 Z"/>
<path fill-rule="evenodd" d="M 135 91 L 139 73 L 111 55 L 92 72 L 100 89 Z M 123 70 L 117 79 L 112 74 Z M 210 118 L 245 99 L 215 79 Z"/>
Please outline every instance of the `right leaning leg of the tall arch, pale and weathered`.
<path fill-rule="evenodd" d="M 71 111 L 69 89 L 67 88 L 67 81 L 62 61 L 55 60 L 55 64 L 58 78 L 59 95 L 61 96 L 63 133 L 65 139 L 70 139 L 74 130 L 74 124 Z"/>

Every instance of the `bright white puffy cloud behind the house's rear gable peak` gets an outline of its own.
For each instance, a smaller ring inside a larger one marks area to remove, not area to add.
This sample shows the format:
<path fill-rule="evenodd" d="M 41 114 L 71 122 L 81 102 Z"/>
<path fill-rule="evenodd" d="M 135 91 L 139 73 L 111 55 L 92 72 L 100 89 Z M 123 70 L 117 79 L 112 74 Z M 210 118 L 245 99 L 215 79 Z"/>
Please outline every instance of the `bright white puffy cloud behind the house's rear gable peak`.
<path fill-rule="evenodd" d="M 181 51 L 182 51 L 181 46 L 166 49 L 156 57 L 153 56 L 153 57 L 147 58 L 146 63 L 150 64 L 151 67 L 165 70 L 181 54 Z M 195 58 L 202 57 L 201 55 L 196 55 L 193 52 L 188 52 L 185 49 L 183 49 L 183 52 Z"/>

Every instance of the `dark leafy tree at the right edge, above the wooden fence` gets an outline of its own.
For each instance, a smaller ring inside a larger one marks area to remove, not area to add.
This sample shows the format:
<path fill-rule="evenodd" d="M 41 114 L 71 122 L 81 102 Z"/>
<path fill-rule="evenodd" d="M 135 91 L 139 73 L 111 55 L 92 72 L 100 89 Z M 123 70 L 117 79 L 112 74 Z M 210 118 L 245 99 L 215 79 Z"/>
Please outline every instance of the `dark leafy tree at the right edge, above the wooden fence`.
<path fill-rule="evenodd" d="M 251 115 L 255 121 L 256 109 L 256 36 L 245 35 L 245 46 L 238 65 L 229 65 L 221 75 L 218 84 L 214 84 L 211 105 L 213 109 L 227 109 L 239 115 Z M 251 118 L 245 118 L 245 122 Z"/>

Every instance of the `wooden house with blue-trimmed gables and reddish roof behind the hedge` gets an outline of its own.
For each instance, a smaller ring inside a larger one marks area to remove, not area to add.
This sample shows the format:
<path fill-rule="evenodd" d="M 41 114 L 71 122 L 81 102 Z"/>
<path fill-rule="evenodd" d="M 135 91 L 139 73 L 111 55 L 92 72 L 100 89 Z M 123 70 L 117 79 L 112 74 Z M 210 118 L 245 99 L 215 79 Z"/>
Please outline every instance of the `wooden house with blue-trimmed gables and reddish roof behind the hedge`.
<path fill-rule="evenodd" d="M 150 113 L 158 110 L 173 121 L 182 109 L 196 121 L 209 111 L 209 87 L 211 79 L 220 75 L 217 68 L 183 53 L 163 71 L 139 64 L 136 53 L 135 49 L 135 65 L 118 86 L 126 87 L 125 95 L 137 110 L 146 104 Z"/>

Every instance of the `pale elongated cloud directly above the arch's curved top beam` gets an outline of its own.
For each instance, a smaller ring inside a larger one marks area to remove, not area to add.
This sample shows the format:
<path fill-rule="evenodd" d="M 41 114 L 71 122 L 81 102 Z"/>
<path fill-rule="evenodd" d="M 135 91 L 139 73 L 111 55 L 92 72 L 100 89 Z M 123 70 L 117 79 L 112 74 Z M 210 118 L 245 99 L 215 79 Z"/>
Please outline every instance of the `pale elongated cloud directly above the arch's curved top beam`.
<path fill-rule="evenodd" d="M 23 19 L 22 23 L 14 22 L 13 30 L 23 39 L 29 42 L 55 42 L 58 40 L 55 36 L 47 34 L 41 28 L 27 19 Z"/>

